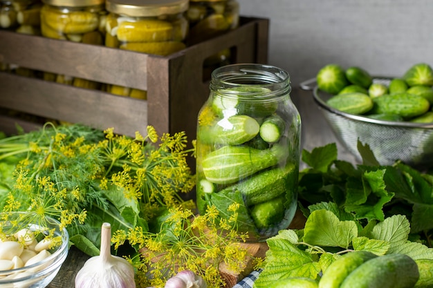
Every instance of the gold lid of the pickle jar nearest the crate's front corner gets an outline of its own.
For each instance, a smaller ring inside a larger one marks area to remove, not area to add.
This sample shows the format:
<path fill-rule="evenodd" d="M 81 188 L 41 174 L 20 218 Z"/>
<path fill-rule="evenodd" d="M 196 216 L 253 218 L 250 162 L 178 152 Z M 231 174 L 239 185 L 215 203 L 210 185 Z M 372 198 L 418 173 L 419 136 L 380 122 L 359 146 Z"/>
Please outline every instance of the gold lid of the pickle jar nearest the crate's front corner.
<path fill-rule="evenodd" d="M 132 17 L 149 17 L 185 12 L 189 0 L 107 0 L 109 12 Z"/>

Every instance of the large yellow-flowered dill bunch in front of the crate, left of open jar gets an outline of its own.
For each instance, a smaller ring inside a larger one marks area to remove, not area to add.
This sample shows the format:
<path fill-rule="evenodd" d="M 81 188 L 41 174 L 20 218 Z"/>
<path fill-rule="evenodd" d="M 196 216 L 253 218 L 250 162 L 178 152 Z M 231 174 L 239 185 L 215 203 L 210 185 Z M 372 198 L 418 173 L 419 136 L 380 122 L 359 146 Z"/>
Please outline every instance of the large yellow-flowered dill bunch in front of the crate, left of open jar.
<path fill-rule="evenodd" d="M 158 146 L 152 143 L 158 140 Z M 102 132 L 80 124 L 46 124 L 41 131 L 4 138 L 0 149 L 6 150 L 0 150 L 0 160 L 21 160 L 1 206 L 5 212 L 28 211 L 40 220 L 51 216 L 71 237 L 85 235 L 92 228 L 86 219 L 93 218 L 93 225 L 100 211 L 116 207 L 122 213 L 123 203 L 110 202 L 110 191 L 136 203 L 137 217 L 143 220 L 161 206 L 193 207 L 179 195 L 195 183 L 186 164 L 192 152 L 185 149 L 186 141 L 184 133 L 159 139 L 151 126 L 146 137 L 137 133 L 131 138 L 114 134 L 113 128 Z M 98 247 L 98 239 L 92 240 Z"/>

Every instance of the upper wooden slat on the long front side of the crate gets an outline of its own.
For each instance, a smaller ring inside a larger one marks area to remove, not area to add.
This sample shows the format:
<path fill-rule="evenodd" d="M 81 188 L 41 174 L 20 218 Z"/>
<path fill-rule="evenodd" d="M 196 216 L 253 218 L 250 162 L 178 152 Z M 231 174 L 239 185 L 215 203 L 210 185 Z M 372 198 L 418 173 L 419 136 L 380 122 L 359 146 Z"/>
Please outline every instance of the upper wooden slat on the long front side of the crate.
<path fill-rule="evenodd" d="M 0 30 L 0 61 L 147 89 L 147 54 Z"/>

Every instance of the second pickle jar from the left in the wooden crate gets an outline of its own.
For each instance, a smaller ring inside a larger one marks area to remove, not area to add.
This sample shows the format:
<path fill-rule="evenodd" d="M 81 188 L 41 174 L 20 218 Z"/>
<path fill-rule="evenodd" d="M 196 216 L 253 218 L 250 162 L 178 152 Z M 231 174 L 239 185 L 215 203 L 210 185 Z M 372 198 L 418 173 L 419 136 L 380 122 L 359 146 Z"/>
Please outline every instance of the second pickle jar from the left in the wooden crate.
<path fill-rule="evenodd" d="M 104 45 L 107 12 L 104 0 L 42 0 L 42 36 L 84 44 Z M 44 73 L 47 81 L 99 89 L 100 83 L 68 75 Z"/>

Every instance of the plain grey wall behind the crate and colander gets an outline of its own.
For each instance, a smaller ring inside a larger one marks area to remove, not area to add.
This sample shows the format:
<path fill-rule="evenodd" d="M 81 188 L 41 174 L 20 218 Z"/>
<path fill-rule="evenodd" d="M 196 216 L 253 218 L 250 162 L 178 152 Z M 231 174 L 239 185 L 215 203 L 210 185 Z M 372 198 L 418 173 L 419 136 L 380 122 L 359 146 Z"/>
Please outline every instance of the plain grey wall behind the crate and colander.
<path fill-rule="evenodd" d="M 299 84 L 330 63 L 399 76 L 418 62 L 433 64 L 432 0 L 238 0 L 241 15 L 270 20 L 268 64 L 291 75 L 302 117 L 302 146 L 336 142 L 311 93 Z"/>

